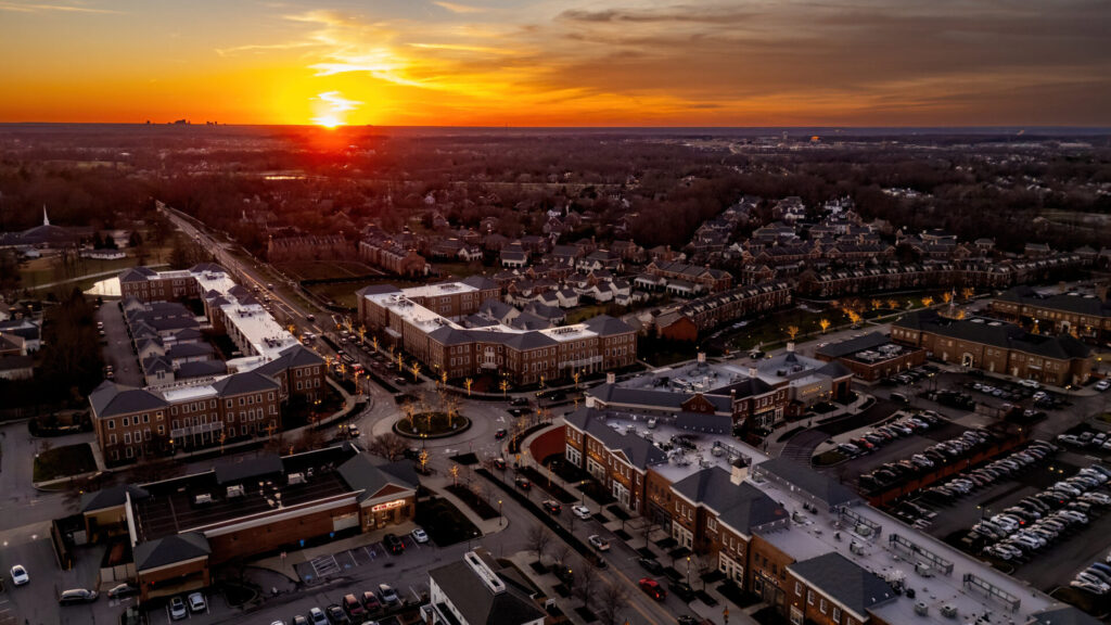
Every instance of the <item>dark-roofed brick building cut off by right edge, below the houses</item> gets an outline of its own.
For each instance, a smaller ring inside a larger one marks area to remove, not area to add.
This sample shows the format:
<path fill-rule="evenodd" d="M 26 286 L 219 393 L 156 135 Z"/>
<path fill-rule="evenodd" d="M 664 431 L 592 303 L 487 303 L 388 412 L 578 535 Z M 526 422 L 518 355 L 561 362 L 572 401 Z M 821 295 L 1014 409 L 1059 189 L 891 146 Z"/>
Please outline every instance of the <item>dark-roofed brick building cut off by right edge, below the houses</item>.
<path fill-rule="evenodd" d="M 1040 331 L 1071 334 L 1102 343 L 1111 338 L 1111 300 L 1107 288 L 1100 294 L 1041 294 L 1030 287 L 1015 287 L 991 300 L 989 309 L 1000 319 Z"/>

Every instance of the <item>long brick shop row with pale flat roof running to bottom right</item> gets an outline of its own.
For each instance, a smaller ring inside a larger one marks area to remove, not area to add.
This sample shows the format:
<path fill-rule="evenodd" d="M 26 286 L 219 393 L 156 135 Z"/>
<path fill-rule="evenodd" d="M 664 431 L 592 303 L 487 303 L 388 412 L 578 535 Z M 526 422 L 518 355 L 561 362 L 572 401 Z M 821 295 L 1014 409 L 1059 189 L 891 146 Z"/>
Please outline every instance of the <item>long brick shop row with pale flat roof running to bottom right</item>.
<path fill-rule="evenodd" d="M 697 572 L 722 573 L 793 625 L 1090 622 L 825 475 L 704 423 L 681 425 L 582 408 L 563 426 L 562 456 L 614 494 L 618 482 L 643 485 L 628 502 L 651 534 L 662 530 L 690 549 Z"/>

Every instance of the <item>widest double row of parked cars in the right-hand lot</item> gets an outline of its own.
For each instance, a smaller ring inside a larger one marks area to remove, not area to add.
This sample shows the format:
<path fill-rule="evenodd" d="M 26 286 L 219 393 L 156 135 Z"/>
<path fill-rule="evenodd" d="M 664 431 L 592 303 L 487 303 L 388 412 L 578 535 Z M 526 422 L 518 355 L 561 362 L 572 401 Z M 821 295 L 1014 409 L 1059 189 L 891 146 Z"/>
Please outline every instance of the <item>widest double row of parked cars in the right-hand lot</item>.
<path fill-rule="evenodd" d="M 1080 469 L 1045 490 L 1024 497 L 1015 505 L 982 519 L 972 533 L 988 540 L 983 553 L 1002 560 L 1024 560 L 1035 552 L 1088 525 L 1091 517 L 1111 505 L 1111 496 L 1099 489 L 1111 478 L 1111 469 L 1100 465 Z"/>

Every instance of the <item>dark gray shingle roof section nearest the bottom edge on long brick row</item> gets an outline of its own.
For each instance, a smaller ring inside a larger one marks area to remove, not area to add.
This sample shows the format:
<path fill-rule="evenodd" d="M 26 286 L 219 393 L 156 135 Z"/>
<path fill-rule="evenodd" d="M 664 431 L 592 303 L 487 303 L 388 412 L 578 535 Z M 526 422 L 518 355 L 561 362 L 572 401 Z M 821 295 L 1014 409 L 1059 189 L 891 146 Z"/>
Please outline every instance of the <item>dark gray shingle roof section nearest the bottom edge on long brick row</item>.
<path fill-rule="evenodd" d="M 837 552 L 797 562 L 787 568 L 859 617 L 867 617 L 868 608 L 895 598 L 887 582 Z"/>

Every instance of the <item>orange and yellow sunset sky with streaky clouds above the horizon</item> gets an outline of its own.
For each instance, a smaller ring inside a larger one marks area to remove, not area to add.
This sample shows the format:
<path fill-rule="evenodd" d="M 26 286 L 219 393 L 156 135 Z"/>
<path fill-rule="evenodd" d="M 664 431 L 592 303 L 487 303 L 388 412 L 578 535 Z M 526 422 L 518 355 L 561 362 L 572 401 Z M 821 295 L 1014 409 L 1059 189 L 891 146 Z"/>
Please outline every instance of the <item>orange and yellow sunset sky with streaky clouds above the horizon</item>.
<path fill-rule="evenodd" d="M 0 121 L 1111 126 L 1109 0 L 0 0 Z"/>

